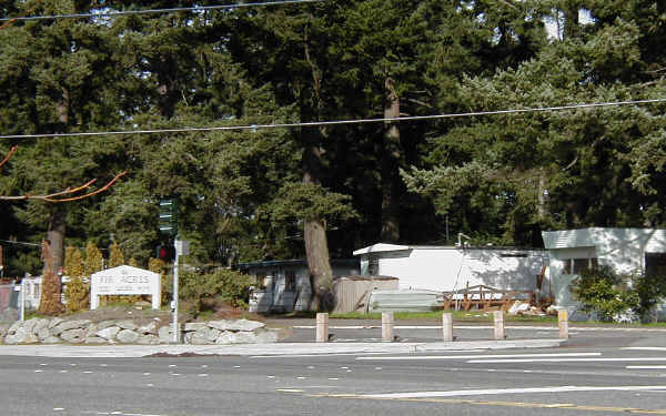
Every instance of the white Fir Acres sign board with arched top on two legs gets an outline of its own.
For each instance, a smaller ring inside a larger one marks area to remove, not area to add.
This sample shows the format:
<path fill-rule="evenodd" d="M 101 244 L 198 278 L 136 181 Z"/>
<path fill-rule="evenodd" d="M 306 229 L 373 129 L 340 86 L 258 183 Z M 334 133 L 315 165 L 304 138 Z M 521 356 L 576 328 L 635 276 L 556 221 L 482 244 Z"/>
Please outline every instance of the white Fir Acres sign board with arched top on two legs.
<path fill-rule="evenodd" d="M 97 310 L 99 296 L 151 295 L 153 310 L 160 308 L 162 282 L 158 273 L 132 266 L 107 268 L 90 276 L 90 308 Z"/>

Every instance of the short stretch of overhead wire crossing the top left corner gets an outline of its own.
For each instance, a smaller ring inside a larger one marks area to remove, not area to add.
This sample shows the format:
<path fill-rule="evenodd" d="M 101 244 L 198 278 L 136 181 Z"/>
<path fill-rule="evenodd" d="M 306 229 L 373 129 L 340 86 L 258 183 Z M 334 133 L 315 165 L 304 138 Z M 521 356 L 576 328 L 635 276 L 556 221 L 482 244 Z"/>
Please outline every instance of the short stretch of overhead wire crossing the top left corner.
<path fill-rule="evenodd" d="M 171 13 L 171 12 L 176 12 L 176 11 L 230 10 L 230 9 L 265 7 L 265 6 L 315 3 L 315 2 L 322 2 L 322 1 L 325 1 L 325 0 L 276 0 L 276 1 L 254 2 L 254 3 L 195 6 L 195 7 L 191 7 L 191 8 L 95 11 L 95 12 L 91 12 L 91 13 L 69 13 L 69 14 L 50 14 L 50 16 L 23 16 L 23 17 L 16 17 L 16 18 L 0 18 L 0 22 L 1 21 L 18 21 L 18 20 L 54 20 L 54 19 L 105 18 L 105 17 L 112 18 L 112 17 L 117 17 L 117 16 L 128 16 L 128 14 L 157 14 L 157 13 Z"/>

